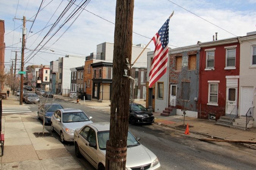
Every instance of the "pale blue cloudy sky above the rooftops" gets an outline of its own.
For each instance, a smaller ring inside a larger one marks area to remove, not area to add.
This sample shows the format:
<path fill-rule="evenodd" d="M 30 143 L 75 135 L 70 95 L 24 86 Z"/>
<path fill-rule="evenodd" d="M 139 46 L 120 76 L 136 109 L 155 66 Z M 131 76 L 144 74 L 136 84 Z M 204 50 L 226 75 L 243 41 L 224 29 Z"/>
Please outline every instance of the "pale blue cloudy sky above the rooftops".
<path fill-rule="evenodd" d="M 77 5 L 85 2 L 72 0 L 72 6 L 63 14 L 70 1 L 0 1 L 0 19 L 5 20 L 6 70 L 15 59 L 14 51 L 19 51 L 17 58 L 21 58 L 22 20 L 18 19 L 23 16 L 30 20 L 26 22 L 25 66 L 50 65 L 66 55 L 88 56 L 96 53 L 98 44 L 114 42 L 115 0 L 88 0 L 81 13 L 78 11 L 67 21 Z M 135 0 L 132 42 L 146 45 L 173 11 L 170 48 L 212 41 L 215 32 L 218 39 L 246 36 L 247 32 L 256 31 L 255 9 L 256 0 Z M 60 22 L 56 22 L 61 14 Z M 148 48 L 153 51 L 154 43 Z M 17 67 L 20 68 L 20 60 Z"/>

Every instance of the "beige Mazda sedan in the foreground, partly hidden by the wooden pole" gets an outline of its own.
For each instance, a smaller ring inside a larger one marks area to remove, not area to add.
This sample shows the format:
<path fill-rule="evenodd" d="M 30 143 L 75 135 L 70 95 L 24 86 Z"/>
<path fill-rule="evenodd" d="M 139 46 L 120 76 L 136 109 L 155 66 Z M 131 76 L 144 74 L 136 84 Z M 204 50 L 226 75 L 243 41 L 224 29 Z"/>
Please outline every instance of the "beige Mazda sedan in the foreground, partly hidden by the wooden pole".
<path fill-rule="evenodd" d="M 109 122 L 84 125 L 74 133 L 75 155 L 83 155 L 97 170 L 105 169 L 106 142 L 109 139 Z M 160 163 L 152 151 L 144 147 L 128 131 L 127 136 L 127 170 L 155 170 Z"/>

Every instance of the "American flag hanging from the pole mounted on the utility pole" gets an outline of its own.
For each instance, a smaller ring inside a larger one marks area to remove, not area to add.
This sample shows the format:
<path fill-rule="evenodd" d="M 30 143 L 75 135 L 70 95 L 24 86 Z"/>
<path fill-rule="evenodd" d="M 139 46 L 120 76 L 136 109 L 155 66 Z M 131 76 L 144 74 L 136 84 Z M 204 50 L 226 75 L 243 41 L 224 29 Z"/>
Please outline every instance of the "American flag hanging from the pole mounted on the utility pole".
<path fill-rule="evenodd" d="M 149 88 L 159 80 L 167 70 L 168 61 L 168 42 L 169 42 L 169 20 L 155 34 L 152 40 L 155 43 L 154 57 L 149 72 Z"/>

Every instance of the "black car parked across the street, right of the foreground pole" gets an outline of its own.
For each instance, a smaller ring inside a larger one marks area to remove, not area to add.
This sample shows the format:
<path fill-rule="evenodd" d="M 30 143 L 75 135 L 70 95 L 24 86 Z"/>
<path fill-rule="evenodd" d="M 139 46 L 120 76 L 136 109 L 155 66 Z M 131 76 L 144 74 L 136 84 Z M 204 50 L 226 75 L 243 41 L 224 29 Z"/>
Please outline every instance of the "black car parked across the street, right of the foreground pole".
<path fill-rule="evenodd" d="M 154 115 L 143 105 L 130 103 L 129 105 L 129 123 L 130 124 L 152 124 L 154 123 Z"/>

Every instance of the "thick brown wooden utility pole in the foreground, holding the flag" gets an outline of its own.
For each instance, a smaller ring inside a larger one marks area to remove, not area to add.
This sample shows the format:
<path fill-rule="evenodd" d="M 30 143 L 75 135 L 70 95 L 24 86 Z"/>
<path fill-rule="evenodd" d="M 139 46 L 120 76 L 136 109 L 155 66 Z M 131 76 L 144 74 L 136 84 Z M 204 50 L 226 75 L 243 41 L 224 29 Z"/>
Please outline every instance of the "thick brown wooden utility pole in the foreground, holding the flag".
<path fill-rule="evenodd" d="M 110 134 L 106 170 L 125 170 L 130 96 L 134 0 L 116 0 Z"/>

